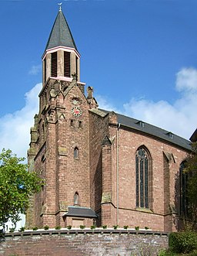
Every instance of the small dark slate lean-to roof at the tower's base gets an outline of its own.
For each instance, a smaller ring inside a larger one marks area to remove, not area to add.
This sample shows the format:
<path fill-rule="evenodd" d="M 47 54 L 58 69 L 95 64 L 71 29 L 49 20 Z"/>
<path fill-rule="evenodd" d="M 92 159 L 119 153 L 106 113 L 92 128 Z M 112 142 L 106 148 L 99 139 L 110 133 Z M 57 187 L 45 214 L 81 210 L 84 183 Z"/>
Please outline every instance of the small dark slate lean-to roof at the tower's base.
<path fill-rule="evenodd" d="M 97 218 L 95 211 L 88 207 L 68 207 L 64 216 Z"/>

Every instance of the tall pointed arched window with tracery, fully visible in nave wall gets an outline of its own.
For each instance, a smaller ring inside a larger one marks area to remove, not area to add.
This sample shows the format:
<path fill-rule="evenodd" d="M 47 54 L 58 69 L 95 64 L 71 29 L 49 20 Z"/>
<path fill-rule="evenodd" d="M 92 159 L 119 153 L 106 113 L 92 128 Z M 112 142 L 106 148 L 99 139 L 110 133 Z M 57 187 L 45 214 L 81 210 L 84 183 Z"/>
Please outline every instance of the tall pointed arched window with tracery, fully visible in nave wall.
<path fill-rule="evenodd" d="M 144 147 L 135 155 L 136 207 L 149 208 L 150 156 Z"/>

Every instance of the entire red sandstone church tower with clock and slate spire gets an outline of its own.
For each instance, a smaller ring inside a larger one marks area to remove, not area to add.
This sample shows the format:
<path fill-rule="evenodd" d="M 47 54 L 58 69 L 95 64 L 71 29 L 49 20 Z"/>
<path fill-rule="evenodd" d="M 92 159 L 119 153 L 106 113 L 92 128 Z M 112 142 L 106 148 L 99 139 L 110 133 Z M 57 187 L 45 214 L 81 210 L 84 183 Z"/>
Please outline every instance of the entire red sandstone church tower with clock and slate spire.
<path fill-rule="evenodd" d="M 27 227 L 79 227 L 97 218 L 90 208 L 89 118 L 92 87 L 80 82 L 80 54 L 60 8 L 42 56 L 39 113 L 31 128 L 30 172 L 45 185 L 31 199 Z"/>

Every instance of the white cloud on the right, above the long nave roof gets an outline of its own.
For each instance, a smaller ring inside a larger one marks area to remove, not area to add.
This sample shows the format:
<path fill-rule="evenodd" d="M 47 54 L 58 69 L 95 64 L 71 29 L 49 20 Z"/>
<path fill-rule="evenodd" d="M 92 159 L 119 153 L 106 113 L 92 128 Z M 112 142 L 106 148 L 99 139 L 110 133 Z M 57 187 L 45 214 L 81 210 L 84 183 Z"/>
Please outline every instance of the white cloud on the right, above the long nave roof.
<path fill-rule="evenodd" d="M 189 139 L 197 127 L 197 70 L 182 68 L 176 74 L 175 88 L 180 96 L 173 104 L 132 98 L 124 104 L 124 114 Z"/>

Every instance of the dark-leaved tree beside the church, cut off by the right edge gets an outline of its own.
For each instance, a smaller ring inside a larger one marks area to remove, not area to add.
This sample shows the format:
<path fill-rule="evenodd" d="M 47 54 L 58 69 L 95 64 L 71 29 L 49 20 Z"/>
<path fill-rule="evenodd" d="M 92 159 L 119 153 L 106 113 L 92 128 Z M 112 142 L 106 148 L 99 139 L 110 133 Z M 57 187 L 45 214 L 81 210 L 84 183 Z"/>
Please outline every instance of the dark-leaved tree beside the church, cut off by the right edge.
<path fill-rule="evenodd" d="M 189 155 L 185 172 L 188 175 L 187 196 L 189 201 L 189 219 L 197 222 L 197 142 L 192 143 L 192 153 Z M 195 227 L 195 225 L 193 225 Z"/>

